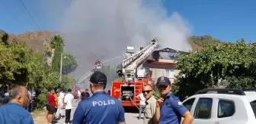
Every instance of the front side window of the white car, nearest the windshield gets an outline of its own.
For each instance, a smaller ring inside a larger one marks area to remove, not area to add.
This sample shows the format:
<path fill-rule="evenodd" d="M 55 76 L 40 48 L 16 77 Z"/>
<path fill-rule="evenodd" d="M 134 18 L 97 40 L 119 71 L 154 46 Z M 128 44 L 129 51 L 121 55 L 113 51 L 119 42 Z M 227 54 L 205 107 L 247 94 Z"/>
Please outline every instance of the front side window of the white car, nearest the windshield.
<path fill-rule="evenodd" d="M 210 119 L 213 106 L 212 98 L 200 98 L 194 111 L 195 119 Z"/>

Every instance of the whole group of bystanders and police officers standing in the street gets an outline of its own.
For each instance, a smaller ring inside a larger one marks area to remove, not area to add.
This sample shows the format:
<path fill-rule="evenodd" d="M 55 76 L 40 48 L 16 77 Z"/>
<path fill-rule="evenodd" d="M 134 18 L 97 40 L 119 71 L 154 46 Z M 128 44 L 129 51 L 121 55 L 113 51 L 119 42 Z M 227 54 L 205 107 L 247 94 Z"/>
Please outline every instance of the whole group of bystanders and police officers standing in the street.
<path fill-rule="evenodd" d="M 120 100 L 110 96 L 110 91 L 105 92 L 107 85 L 107 76 L 101 72 L 95 72 L 90 78 L 91 97 L 88 89 L 79 93 L 79 104 L 73 115 L 73 124 L 125 124 L 125 112 Z M 159 77 L 157 88 L 160 91 L 161 98 L 155 99 L 152 85 L 147 84 L 143 87 L 142 93 L 136 96 L 140 99 L 139 119 L 141 119 L 144 109 L 144 124 L 179 124 L 181 117 L 184 117 L 182 124 L 190 124 L 194 117 L 187 110 L 181 101 L 171 94 L 171 82 L 165 77 Z M 0 107 L 1 124 L 34 124 L 33 117 L 26 109 L 29 101 L 29 90 L 21 85 L 12 85 L 8 90 L 8 103 Z M 90 97 L 90 98 L 89 98 Z M 53 119 L 59 119 L 64 116 L 65 123 L 70 123 L 70 114 L 72 110 L 72 89 L 67 93 L 62 90 L 55 91 L 50 89 L 46 96 L 46 122 L 52 123 Z"/>

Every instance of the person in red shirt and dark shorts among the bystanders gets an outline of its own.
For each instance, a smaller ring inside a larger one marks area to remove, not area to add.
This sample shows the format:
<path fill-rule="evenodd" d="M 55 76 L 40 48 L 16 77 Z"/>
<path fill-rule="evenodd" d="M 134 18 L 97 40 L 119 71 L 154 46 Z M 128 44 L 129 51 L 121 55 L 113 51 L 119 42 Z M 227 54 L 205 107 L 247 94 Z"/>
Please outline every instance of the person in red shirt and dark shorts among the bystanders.
<path fill-rule="evenodd" d="M 48 112 L 48 124 L 51 124 L 53 121 L 53 113 L 56 113 L 56 101 L 55 101 L 55 97 L 54 97 L 54 89 L 50 90 L 50 94 L 48 95 L 48 101 L 49 101 L 49 112 Z"/>

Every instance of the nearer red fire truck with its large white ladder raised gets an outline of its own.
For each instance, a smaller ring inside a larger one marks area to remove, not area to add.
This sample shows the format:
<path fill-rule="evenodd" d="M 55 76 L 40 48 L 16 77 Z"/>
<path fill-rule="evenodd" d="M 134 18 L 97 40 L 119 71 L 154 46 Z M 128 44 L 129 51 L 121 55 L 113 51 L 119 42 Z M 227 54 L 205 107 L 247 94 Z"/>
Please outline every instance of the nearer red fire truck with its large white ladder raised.
<path fill-rule="evenodd" d="M 152 82 L 149 70 L 142 67 L 151 54 L 158 48 L 157 39 L 152 39 L 146 48 L 134 54 L 133 47 L 127 47 L 126 57 L 122 63 L 122 70 L 117 71 L 120 79 L 112 82 L 111 96 L 119 99 L 123 107 L 137 107 L 139 99 L 136 98 L 142 92 L 144 85 Z"/>

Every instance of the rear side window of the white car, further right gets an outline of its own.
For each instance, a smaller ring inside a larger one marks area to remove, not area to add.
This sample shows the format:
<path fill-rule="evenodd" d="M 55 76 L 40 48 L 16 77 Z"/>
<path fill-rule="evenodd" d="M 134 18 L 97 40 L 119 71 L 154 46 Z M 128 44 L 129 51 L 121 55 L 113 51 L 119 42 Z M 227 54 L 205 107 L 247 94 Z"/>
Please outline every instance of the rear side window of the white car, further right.
<path fill-rule="evenodd" d="M 218 118 L 229 117 L 235 113 L 235 104 L 233 101 L 219 100 Z"/>

